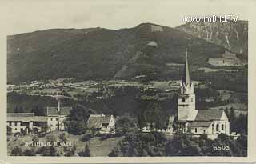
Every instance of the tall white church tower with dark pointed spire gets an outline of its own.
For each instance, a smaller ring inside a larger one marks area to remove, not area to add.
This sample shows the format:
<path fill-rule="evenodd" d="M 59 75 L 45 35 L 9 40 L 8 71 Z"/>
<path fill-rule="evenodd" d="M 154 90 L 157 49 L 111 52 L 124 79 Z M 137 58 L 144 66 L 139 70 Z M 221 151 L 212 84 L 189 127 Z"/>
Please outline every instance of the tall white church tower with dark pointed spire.
<path fill-rule="evenodd" d="M 178 121 L 194 121 L 197 110 L 195 110 L 194 85 L 190 81 L 187 51 L 180 89 L 181 93 L 178 94 Z"/>

